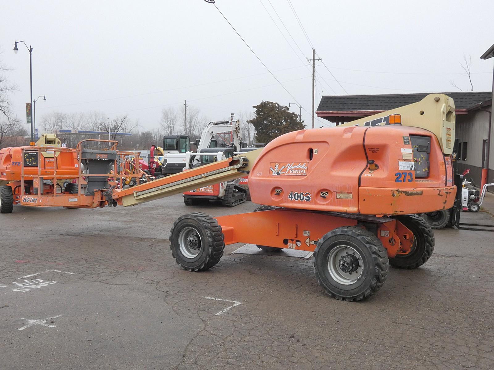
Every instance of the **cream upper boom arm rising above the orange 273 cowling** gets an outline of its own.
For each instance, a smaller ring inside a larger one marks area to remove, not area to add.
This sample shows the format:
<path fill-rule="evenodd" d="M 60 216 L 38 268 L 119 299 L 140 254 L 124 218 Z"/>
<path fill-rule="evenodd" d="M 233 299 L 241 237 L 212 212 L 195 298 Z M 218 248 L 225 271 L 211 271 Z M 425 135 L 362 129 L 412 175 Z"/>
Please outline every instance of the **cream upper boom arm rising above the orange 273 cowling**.
<path fill-rule="evenodd" d="M 453 99 L 444 94 L 429 94 L 421 101 L 391 109 L 341 126 L 378 126 L 388 124 L 386 117 L 400 114 L 403 126 L 424 128 L 436 135 L 445 154 L 453 153 L 455 113 Z"/>

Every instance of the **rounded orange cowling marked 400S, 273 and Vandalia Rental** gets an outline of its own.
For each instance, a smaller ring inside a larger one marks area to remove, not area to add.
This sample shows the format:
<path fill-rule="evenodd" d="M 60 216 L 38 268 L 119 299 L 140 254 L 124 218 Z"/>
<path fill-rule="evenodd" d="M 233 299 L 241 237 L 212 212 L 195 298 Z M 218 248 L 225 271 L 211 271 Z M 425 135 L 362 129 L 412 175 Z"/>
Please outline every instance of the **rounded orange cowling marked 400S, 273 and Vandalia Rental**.
<path fill-rule="evenodd" d="M 254 203 L 366 215 L 448 209 L 456 191 L 436 136 L 401 125 L 282 135 L 263 149 L 248 184 Z"/>

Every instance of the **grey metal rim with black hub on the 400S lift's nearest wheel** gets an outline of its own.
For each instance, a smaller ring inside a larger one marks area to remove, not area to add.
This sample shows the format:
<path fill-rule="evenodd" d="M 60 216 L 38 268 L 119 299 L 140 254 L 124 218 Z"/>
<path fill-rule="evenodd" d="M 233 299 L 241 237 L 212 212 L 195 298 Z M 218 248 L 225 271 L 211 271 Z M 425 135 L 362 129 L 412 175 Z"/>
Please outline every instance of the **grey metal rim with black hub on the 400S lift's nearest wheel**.
<path fill-rule="evenodd" d="M 337 246 L 329 252 L 328 271 L 339 284 L 354 284 L 364 273 L 362 256 L 348 245 Z"/>

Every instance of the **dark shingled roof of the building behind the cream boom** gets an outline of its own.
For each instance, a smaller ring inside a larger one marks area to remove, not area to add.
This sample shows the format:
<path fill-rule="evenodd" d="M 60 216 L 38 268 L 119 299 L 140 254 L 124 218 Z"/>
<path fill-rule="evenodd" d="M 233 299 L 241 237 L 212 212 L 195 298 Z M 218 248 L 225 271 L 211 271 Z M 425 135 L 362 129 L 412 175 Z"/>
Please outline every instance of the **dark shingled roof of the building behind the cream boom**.
<path fill-rule="evenodd" d="M 389 111 L 416 103 L 431 93 L 323 96 L 317 111 Z M 467 109 L 492 99 L 492 92 L 446 92 L 456 109 Z"/>

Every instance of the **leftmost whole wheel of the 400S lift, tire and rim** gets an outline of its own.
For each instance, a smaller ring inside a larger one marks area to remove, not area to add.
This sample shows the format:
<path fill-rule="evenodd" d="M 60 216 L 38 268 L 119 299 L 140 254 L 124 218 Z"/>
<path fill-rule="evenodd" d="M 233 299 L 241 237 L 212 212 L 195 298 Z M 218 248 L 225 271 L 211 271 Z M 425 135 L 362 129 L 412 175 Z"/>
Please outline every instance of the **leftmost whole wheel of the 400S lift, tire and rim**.
<path fill-rule="evenodd" d="M 221 226 L 202 212 L 180 216 L 170 230 L 170 249 L 184 270 L 206 271 L 223 256 Z"/>

